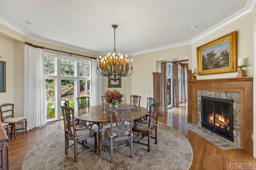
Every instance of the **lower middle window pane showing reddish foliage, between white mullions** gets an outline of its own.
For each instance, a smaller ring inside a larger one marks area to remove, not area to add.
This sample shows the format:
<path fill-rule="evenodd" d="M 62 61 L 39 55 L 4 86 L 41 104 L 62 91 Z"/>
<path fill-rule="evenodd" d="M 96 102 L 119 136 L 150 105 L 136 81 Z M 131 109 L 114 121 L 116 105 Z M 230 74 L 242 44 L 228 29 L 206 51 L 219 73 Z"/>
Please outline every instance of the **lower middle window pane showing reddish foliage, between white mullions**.
<path fill-rule="evenodd" d="M 61 105 L 69 101 L 69 107 L 74 108 L 74 80 L 61 80 Z"/>

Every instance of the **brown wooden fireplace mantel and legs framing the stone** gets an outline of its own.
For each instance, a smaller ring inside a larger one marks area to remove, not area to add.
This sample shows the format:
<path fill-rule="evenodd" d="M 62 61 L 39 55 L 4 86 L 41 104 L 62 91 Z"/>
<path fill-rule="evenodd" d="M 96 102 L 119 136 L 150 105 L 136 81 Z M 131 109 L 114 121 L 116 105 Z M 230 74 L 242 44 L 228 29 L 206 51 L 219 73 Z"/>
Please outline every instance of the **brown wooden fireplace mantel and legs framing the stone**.
<path fill-rule="evenodd" d="M 188 75 L 189 77 L 189 75 Z M 240 133 L 236 133 L 236 143 L 244 149 L 253 152 L 253 93 L 252 93 L 252 77 L 240 78 L 221 78 L 206 80 L 189 80 L 188 81 L 188 123 L 198 124 L 198 93 L 217 92 L 221 95 L 240 96 L 240 104 L 236 108 L 240 108 Z M 214 94 L 215 95 L 215 94 Z M 200 95 L 201 98 L 201 95 Z M 229 97 L 228 97 L 229 98 Z M 234 106 L 233 106 L 234 107 Z M 201 112 L 200 112 L 201 113 Z M 201 119 L 201 118 L 200 118 Z M 238 128 L 237 128 L 238 129 Z M 240 137 L 238 135 L 240 135 Z M 235 134 L 234 134 L 235 135 Z M 239 142 L 240 140 L 240 142 Z"/>

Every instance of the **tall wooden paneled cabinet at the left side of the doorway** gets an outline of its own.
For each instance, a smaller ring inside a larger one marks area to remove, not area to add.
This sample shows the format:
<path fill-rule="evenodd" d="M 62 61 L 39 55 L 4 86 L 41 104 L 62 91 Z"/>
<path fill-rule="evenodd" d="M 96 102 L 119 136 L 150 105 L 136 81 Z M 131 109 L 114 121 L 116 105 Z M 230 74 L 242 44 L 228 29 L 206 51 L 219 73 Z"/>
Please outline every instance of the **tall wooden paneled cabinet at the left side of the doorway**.
<path fill-rule="evenodd" d="M 153 72 L 153 98 L 155 102 L 159 102 L 159 113 L 163 110 L 163 74 L 160 72 Z"/>

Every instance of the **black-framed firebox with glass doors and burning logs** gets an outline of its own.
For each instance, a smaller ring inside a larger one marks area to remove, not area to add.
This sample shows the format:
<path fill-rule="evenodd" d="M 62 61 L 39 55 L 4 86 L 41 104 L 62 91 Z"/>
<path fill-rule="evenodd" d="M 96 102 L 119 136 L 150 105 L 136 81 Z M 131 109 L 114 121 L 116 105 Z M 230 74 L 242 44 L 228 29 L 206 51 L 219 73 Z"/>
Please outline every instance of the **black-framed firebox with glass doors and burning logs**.
<path fill-rule="evenodd" d="M 234 141 L 233 101 L 201 96 L 201 126 Z"/>

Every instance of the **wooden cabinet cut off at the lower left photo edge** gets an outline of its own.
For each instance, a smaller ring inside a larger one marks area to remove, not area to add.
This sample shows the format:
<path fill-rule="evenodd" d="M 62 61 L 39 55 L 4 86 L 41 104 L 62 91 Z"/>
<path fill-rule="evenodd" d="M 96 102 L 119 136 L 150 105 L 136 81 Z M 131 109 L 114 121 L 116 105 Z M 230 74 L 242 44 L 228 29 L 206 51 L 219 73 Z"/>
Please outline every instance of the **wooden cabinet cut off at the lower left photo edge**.
<path fill-rule="evenodd" d="M 8 170 L 8 137 L 0 122 L 0 170 Z"/>

